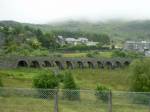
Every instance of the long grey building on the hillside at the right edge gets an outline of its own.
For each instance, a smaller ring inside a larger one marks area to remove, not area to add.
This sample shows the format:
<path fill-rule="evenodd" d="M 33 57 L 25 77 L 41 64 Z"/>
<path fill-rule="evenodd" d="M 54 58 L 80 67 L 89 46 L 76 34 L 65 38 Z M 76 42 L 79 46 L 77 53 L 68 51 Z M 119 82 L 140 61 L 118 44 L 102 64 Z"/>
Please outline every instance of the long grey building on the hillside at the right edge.
<path fill-rule="evenodd" d="M 150 42 L 148 41 L 126 41 L 125 50 L 145 52 L 150 50 Z"/>

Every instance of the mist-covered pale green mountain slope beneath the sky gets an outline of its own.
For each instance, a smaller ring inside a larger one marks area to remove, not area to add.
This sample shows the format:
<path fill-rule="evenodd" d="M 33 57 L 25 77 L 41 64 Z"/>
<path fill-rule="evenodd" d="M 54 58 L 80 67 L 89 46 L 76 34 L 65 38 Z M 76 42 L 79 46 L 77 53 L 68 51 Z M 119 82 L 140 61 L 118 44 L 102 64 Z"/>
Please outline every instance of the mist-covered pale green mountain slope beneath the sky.
<path fill-rule="evenodd" d="M 43 32 L 70 31 L 87 33 L 104 33 L 111 39 L 118 40 L 150 40 L 150 21 L 107 21 L 91 23 L 87 21 L 66 21 L 49 24 L 28 24 L 15 21 L 1 21 L 0 25 L 28 25 Z"/>

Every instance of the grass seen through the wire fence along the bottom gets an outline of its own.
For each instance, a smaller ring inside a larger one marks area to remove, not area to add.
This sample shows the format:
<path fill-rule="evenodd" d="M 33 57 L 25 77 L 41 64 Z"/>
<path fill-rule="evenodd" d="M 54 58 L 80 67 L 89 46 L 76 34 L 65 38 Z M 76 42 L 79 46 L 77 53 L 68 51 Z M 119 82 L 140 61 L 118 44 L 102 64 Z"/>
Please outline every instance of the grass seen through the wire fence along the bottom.
<path fill-rule="evenodd" d="M 21 94 L 21 93 L 20 93 Z M 148 112 L 149 105 L 136 104 L 127 95 L 113 97 L 113 112 Z M 97 100 L 94 93 L 81 91 L 80 100 L 62 99 L 59 94 L 59 112 L 108 112 L 108 103 Z M 54 99 L 42 99 L 30 96 L 0 97 L 0 112 L 53 112 Z"/>

